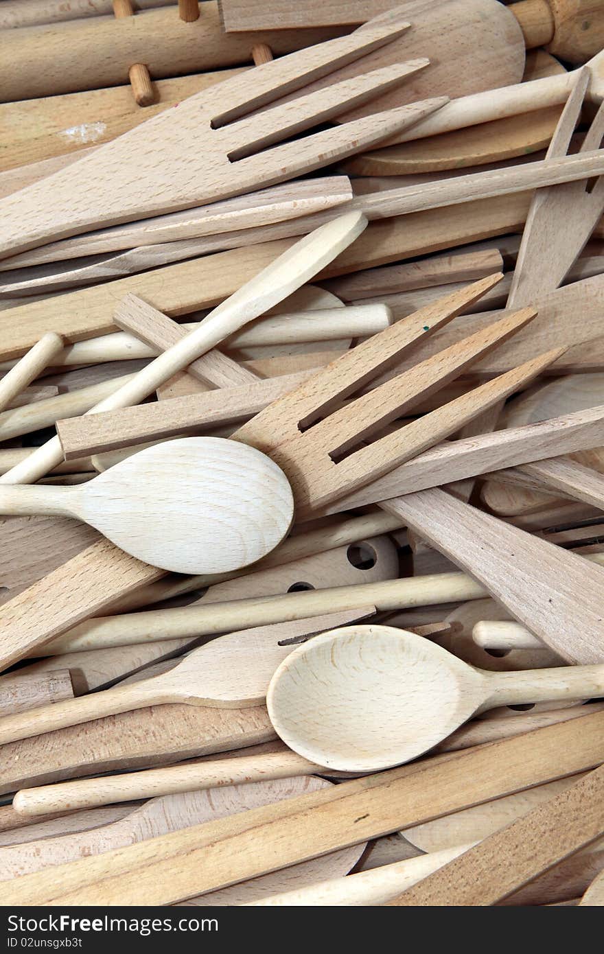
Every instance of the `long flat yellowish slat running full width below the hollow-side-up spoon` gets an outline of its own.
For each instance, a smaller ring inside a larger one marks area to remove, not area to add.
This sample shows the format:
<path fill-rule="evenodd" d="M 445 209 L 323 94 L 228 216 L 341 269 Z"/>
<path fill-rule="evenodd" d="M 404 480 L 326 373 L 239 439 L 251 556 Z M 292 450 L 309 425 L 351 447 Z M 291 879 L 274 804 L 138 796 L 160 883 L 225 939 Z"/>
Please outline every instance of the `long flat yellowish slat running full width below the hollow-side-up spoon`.
<path fill-rule="evenodd" d="M 345 781 L 186 834 L 58 865 L 52 881 L 46 873 L 26 875 L 7 884 L 3 897 L 8 904 L 179 901 L 585 771 L 603 757 L 602 724 L 598 713 L 421 767 Z"/>

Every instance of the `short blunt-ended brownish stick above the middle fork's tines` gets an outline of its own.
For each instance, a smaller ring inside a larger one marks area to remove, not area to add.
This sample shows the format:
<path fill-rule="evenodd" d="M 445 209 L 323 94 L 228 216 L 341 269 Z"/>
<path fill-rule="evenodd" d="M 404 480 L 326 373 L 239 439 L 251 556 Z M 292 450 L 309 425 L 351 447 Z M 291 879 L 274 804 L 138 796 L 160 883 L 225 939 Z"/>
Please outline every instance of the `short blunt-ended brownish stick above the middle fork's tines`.
<path fill-rule="evenodd" d="M 486 249 L 484 252 L 457 252 L 386 268 L 365 269 L 355 275 L 327 280 L 323 285 L 344 301 L 359 301 L 377 295 L 431 288 L 451 281 L 486 279 L 502 271 L 501 254 L 496 249 Z"/>

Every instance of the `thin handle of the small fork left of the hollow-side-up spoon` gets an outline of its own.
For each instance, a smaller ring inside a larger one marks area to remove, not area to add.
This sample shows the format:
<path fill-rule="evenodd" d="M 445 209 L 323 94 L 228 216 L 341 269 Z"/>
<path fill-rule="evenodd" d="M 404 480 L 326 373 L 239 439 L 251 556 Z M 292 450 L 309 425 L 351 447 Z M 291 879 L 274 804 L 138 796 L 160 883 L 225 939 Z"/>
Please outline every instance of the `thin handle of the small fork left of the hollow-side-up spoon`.
<path fill-rule="evenodd" d="M 152 702 L 172 701 L 172 698 L 163 698 L 160 692 L 150 691 L 147 688 L 150 681 L 116 686 L 115 689 L 107 689 L 103 693 L 81 695 L 79 698 L 55 702 L 40 709 L 30 709 L 16 716 L 4 716 L 0 718 L 0 745 L 19 738 L 31 738 L 54 732 L 56 729 L 65 729 L 80 722 L 92 722 L 96 718 L 142 709 Z"/>

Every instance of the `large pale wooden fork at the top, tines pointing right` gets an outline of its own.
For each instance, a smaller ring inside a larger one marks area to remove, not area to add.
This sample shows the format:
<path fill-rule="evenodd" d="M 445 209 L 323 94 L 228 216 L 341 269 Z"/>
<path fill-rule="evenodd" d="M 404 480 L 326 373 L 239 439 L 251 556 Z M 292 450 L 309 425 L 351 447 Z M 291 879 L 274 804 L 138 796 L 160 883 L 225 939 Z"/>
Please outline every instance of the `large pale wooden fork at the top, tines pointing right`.
<path fill-rule="evenodd" d="M 251 115 L 283 93 L 300 90 L 309 80 L 388 43 L 404 29 L 365 28 L 284 56 L 258 67 L 253 83 L 234 76 L 156 115 L 73 166 L 6 197 L 0 202 L 0 253 L 15 255 L 96 227 L 274 185 L 417 122 L 446 100 L 365 116 L 344 127 L 282 142 L 401 82 L 426 66 L 426 59 L 353 77 Z M 129 161 L 133 155 L 135 165 Z"/>

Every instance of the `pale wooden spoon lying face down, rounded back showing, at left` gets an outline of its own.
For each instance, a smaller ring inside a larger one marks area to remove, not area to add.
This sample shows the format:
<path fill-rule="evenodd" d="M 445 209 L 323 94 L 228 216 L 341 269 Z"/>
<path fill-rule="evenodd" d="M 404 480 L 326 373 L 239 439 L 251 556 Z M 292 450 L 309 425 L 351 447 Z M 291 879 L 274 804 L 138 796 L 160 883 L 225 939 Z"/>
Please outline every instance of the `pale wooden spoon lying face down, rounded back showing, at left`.
<path fill-rule="evenodd" d="M 204 437 L 147 447 L 79 487 L 2 487 L 0 510 L 77 517 L 163 570 L 219 573 L 281 543 L 294 502 L 270 458 Z"/>

